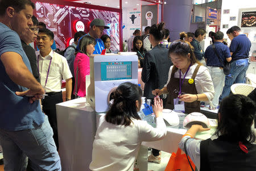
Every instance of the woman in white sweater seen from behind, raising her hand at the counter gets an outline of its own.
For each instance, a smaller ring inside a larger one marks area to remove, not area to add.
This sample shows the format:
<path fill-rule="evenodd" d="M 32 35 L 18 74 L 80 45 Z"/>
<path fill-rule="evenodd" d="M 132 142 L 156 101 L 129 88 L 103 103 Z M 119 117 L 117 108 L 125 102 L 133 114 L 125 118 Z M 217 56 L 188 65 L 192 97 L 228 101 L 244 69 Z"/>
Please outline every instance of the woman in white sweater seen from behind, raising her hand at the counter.
<path fill-rule="evenodd" d="M 141 97 L 141 88 L 130 82 L 119 85 L 114 91 L 113 105 L 98 123 L 91 170 L 133 171 L 142 141 L 157 141 L 166 136 L 163 101 L 155 97 L 153 111 L 156 128 L 153 128 L 137 114 L 141 109 Z"/>

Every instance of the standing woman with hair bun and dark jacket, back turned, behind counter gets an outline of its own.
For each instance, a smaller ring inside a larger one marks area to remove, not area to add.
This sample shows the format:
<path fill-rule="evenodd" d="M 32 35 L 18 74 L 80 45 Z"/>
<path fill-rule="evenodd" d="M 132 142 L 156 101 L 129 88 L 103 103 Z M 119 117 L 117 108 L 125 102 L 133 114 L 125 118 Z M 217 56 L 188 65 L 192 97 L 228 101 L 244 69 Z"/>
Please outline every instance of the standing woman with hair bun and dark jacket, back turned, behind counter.
<path fill-rule="evenodd" d="M 151 101 L 154 99 L 154 95 L 152 95 L 151 91 L 164 87 L 168 79 L 168 71 L 172 65 L 171 60 L 168 58 L 168 49 L 161 44 L 164 35 L 163 22 L 150 27 L 149 40 L 153 48 L 151 51 L 148 51 L 144 57 L 141 78 L 145 83 L 143 97 L 151 99 Z M 160 98 L 163 99 L 163 95 L 161 95 Z M 160 151 L 156 149 L 152 149 L 152 155 L 148 156 L 148 161 L 160 163 L 161 158 L 159 152 Z"/>

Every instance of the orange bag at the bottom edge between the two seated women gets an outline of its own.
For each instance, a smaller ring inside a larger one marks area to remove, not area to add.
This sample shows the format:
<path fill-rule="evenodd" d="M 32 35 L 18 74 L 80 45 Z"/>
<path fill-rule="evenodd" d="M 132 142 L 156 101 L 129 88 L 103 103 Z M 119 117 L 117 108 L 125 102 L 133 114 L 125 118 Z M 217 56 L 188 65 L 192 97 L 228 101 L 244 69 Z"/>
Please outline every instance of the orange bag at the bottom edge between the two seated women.
<path fill-rule="evenodd" d="M 188 139 L 187 139 L 188 140 Z M 187 144 L 187 140 L 184 142 L 184 147 Z M 185 154 L 181 155 L 181 149 L 178 148 L 176 153 L 172 153 L 170 160 L 166 166 L 166 169 L 164 171 L 194 171 L 197 170 L 195 164 L 190 159 L 190 157 L 187 155 L 186 148 Z"/>

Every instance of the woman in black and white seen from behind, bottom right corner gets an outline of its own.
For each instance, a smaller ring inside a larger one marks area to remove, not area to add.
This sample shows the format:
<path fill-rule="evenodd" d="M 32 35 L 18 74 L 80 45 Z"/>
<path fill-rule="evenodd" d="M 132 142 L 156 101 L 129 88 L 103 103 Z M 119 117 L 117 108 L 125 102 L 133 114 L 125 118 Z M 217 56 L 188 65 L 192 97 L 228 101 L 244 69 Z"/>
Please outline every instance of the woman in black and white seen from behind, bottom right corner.
<path fill-rule="evenodd" d="M 187 150 L 198 170 L 256 170 L 255 135 L 251 130 L 255 104 L 245 95 L 224 98 L 218 112 L 217 139 L 195 140 L 196 132 L 208 129 L 193 125 L 179 143 Z M 184 143 L 187 144 L 184 147 Z"/>

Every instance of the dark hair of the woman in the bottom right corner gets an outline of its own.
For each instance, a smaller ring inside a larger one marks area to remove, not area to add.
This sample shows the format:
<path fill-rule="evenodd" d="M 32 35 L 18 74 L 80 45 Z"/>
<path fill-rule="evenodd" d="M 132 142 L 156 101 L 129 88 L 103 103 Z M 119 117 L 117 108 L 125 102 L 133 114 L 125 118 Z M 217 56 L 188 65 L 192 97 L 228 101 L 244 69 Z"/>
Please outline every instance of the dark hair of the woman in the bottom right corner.
<path fill-rule="evenodd" d="M 233 94 L 222 99 L 218 110 L 218 127 L 214 135 L 228 136 L 229 140 L 243 143 L 255 141 L 251 124 L 255 116 L 255 103 L 245 95 Z"/>

